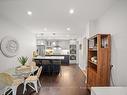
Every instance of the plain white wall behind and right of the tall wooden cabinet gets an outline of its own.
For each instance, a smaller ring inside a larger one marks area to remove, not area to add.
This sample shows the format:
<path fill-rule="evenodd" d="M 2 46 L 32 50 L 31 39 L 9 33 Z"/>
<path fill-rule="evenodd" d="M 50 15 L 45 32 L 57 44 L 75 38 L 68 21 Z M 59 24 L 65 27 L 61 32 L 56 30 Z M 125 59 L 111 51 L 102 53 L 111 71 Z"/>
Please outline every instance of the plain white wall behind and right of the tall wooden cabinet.
<path fill-rule="evenodd" d="M 127 86 L 127 0 L 119 0 L 96 21 L 96 33 L 110 33 L 114 84 Z M 90 33 L 90 36 L 95 33 Z"/>

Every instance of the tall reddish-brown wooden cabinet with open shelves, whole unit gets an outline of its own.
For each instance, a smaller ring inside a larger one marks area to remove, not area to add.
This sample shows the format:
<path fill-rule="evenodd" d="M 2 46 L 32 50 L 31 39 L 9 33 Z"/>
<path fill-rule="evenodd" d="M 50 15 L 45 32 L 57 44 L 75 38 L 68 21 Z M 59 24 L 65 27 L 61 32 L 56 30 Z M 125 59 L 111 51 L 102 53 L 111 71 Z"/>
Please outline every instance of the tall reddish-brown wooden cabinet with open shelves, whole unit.
<path fill-rule="evenodd" d="M 110 34 L 88 39 L 87 86 L 110 85 Z"/>

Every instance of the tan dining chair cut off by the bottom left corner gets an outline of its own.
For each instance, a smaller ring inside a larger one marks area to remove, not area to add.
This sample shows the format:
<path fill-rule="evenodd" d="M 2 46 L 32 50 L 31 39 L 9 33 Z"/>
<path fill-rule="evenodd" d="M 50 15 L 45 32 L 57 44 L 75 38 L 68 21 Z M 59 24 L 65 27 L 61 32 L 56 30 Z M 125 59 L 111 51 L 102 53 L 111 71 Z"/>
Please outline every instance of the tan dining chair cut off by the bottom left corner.
<path fill-rule="evenodd" d="M 2 95 L 16 95 L 17 87 L 24 82 L 23 78 L 14 78 L 8 73 L 0 73 L 0 86 L 2 87 Z"/>

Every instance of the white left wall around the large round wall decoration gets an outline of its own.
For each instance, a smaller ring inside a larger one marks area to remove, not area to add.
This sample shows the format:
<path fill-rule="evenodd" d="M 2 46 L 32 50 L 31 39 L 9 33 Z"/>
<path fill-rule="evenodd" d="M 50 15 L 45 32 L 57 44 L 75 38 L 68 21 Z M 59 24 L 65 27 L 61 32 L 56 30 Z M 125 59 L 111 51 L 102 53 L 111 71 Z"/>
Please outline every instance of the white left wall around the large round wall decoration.
<path fill-rule="evenodd" d="M 28 56 L 29 61 L 31 61 L 32 51 L 36 48 L 34 34 L 14 22 L 0 17 L 0 41 L 5 36 L 16 38 L 20 46 L 18 55 L 12 58 L 5 57 L 0 51 L 0 72 L 20 65 L 17 61 L 17 57 L 19 56 Z"/>

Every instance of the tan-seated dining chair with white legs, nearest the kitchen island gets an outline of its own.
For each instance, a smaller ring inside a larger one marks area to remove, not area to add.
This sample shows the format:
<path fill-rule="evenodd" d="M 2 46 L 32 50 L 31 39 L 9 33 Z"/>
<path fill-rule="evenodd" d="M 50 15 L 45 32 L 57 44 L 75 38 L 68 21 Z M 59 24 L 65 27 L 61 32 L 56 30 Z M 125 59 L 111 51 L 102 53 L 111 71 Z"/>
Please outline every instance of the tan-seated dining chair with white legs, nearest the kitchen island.
<path fill-rule="evenodd" d="M 23 94 L 25 93 L 26 89 L 26 85 L 28 84 L 32 89 L 34 89 L 36 91 L 36 93 L 38 93 L 38 85 L 39 87 L 41 87 L 41 83 L 39 81 L 39 77 L 41 75 L 42 72 L 42 66 L 38 69 L 37 74 L 36 75 L 30 75 L 28 76 L 25 81 L 24 81 L 24 89 L 23 89 Z M 34 87 L 31 85 L 33 84 Z"/>

